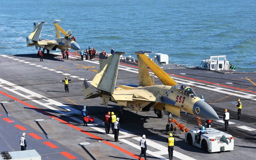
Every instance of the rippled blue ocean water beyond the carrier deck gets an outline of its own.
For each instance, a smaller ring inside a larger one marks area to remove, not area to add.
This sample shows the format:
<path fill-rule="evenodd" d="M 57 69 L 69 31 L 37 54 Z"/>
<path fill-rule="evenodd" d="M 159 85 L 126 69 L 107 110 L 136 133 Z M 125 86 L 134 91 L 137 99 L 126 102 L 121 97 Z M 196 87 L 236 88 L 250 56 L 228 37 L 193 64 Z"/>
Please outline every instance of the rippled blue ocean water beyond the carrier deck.
<path fill-rule="evenodd" d="M 1 0 L 0 10 L 0 54 L 36 53 L 26 47 L 33 23 L 46 22 L 41 39 L 54 39 L 58 20 L 82 50 L 148 50 L 190 66 L 226 55 L 256 70 L 255 0 Z"/>

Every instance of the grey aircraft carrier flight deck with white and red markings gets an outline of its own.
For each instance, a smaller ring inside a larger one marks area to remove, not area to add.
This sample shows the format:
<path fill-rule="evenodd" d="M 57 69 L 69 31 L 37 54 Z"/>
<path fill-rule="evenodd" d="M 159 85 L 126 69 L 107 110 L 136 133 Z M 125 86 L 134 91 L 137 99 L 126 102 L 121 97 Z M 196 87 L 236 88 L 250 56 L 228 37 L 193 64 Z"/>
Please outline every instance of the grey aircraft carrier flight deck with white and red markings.
<path fill-rule="evenodd" d="M 150 112 L 124 108 L 120 120 L 120 142 L 114 134 L 105 133 L 103 118 L 120 106 L 102 104 L 100 97 L 84 99 L 83 82 L 92 81 L 99 70 L 98 58 L 60 60 L 50 54 L 40 62 L 35 54 L 0 55 L 0 151 L 20 151 L 20 136 L 26 132 L 27 150 L 36 150 L 42 160 L 136 160 L 140 155 L 140 139 L 146 135 L 147 159 L 167 160 L 166 132 L 168 112 L 158 118 Z M 224 109 L 230 112 L 228 134 L 234 137 L 234 150 L 209 153 L 184 142 L 185 133 L 172 131 L 176 139 L 174 160 L 253 160 L 256 149 L 256 74 L 219 74 L 207 70 L 164 70 L 179 84 L 187 84 L 196 95 L 204 96 L 219 116 L 212 128 L 225 131 Z M 64 77 L 69 82 L 65 92 Z M 162 84 L 154 78 L 154 84 Z M 116 84 L 138 84 L 138 67 L 120 62 Z M 92 87 L 92 86 L 91 86 Z M 93 88 L 93 87 L 92 87 Z M 237 99 L 242 102 L 242 118 L 238 120 Z M 83 126 L 81 110 L 87 106 L 94 122 Z M 196 117 L 181 113 L 173 116 L 189 129 L 198 129 Z M 206 120 L 202 119 L 205 126 Z M 80 145 L 88 142 L 87 145 Z M 143 159 L 143 157 L 141 158 Z"/>

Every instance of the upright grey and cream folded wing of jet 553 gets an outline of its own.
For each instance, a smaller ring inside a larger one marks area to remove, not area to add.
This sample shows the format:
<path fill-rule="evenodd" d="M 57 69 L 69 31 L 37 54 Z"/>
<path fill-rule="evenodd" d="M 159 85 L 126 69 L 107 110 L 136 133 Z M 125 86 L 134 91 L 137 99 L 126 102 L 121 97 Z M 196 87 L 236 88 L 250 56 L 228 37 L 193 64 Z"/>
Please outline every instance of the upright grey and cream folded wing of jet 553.
<path fill-rule="evenodd" d="M 98 90 L 113 93 L 116 85 L 120 56 L 124 52 L 115 52 L 108 56 L 106 61 L 100 67 L 100 70 L 92 80 L 92 86 Z"/>

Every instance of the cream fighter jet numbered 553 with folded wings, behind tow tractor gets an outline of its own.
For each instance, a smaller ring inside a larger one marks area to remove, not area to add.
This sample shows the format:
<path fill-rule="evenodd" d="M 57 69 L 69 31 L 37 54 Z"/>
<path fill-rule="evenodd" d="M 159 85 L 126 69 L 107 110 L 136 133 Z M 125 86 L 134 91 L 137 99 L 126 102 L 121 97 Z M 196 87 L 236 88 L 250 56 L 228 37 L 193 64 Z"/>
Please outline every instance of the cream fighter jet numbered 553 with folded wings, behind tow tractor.
<path fill-rule="evenodd" d="M 116 85 L 120 55 L 124 52 L 115 52 L 110 55 L 91 82 L 98 93 L 93 94 L 89 84 L 84 80 L 85 98 L 102 97 L 102 104 L 108 105 L 109 101 L 115 102 L 122 108 L 145 112 L 154 108 L 158 118 L 163 117 L 166 110 L 180 116 L 181 110 L 197 117 L 209 120 L 218 119 L 214 109 L 206 102 L 198 98 L 193 89 L 186 84 L 178 84 L 158 65 L 156 65 L 145 53 L 135 52 L 138 55 L 139 85 Z M 162 85 L 153 85 L 149 67 L 160 79 Z"/>

